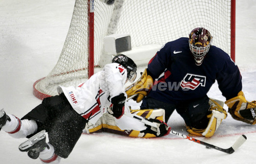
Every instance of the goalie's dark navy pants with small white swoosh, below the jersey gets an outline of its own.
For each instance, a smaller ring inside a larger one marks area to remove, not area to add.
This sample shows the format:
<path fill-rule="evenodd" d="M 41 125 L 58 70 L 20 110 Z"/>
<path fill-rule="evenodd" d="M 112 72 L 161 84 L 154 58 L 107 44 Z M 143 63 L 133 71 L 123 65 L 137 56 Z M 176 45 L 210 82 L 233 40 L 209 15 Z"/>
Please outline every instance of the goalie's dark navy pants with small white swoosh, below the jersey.
<path fill-rule="evenodd" d="M 156 109 L 162 108 L 165 110 L 165 122 L 167 123 L 170 115 L 176 111 L 182 116 L 185 124 L 189 127 L 196 129 L 205 129 L 208 125 L 209 119 L 207 115 L 209 114 L 209 98 L 207 96 L 194 99 L 189 101 L 184 101 L 178 104 L 168 104 L 153 98 L 144 98 L 140 106 L 141 109 Z"/>

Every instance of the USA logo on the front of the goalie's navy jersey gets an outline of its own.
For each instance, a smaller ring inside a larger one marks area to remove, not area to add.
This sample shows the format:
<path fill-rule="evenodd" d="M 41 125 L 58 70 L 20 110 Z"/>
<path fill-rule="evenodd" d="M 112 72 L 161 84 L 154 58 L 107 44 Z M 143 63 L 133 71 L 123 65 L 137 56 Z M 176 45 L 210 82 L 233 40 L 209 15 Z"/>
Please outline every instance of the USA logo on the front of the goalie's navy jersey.
<path fill-rule="evenodd" d="M 205 86 L 206 77 L 194 74 L 187 74 L 180 83 L 184 89 L 195 90 L 199 85 Z"/>

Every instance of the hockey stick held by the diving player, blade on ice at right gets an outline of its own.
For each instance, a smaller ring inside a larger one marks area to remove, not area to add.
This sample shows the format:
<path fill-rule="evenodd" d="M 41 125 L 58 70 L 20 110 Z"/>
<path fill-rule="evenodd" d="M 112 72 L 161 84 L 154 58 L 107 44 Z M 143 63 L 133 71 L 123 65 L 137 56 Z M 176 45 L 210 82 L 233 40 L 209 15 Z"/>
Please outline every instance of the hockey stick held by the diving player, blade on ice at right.
<path fill-rule="evenodd" d="M 131 113 L 124 113 L 126 116 L 129 116 L 130 118 L 133 118 L 133 119 L 136 119 L 146 125 L 150 125 L 150 126 L 153 126 L 155 128 L 158 128 L 158 123 L 152 123 L 150 121 L 147 121 L 145 120 L 144 118 L 142 118 L 141 116 L 139 115 L 133 115 Z M 210 149 L 210 148 L 213 148 L 213 149 L 216 149 L 216 150 L 219 150 L 219 151 L 222 151 L 224 153 L 227 153 L 227 154 L 232 154 L 234 151 L 237 151 L 238 148 L 243 145 L 243 143 L 246 141 L 246 136 L 245 135 L 241 135 L 237 140 L 236 142 L 230 147 L 230 148 L 227 148 L 227 149 L 223 149 L 223 148 L 220 148 L 218 146 L 215 146 L 215 145 L 211 145 L 211 144 L 208 144 L 208 143 L 205 143 L 199 139 L 196 139 L 196 138 L 193 138 L 193 137 L 190 137 L 190 136 L 187 136 L 185 134 L 181 134 L 179 132 L 176 132 L 174 130 L 170 130 L 170 133 L 169 134 L 172 134 L 172 135 L 176 135 L 180 138 L 185 138 L 185 139 L 188 139 L 192 142 L 195 142 L 195 143 L 198 143 L 198 144 L 201 144 L 203 146 L 206 146 L 207 149 Z"/>

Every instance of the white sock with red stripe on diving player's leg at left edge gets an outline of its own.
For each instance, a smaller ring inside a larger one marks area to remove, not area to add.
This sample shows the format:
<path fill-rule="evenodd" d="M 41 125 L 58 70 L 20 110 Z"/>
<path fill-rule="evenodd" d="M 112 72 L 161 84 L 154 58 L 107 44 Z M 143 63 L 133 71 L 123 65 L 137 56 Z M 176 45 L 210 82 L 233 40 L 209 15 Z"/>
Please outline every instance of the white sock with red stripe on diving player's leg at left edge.
<path fill-rule="evenodd" d="M 16 116 L 8 114 L 11 121 L 7 121 L 2 127 L 4 131 L 14 138 L 24 138 L 33 134 L 37 130 L 37 124 L 34 120 L 20 120 Z"/>

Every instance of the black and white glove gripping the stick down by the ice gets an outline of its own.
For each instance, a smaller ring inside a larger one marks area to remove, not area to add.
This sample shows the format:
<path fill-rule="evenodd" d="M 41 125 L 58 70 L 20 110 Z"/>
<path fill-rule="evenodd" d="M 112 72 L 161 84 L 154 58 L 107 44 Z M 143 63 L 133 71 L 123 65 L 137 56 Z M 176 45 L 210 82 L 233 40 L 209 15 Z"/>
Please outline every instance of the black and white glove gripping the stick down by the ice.
<path fill-rule="evenodd" d="M 167 124 L 161 120 L 157 119 L 149 119 L 148 121 L 152 123 L 158 123 L 158 128 L 152 127 L 150 125 L 146 125 L 146 130 L 140 131 L 141 133 L 151 133 L 154 134 L 157 137 L 168 135 L 170 132 L 170 127 L 167 126 Z"/>

